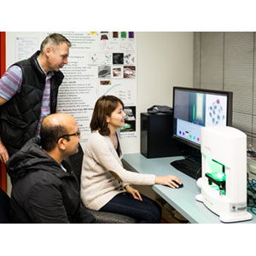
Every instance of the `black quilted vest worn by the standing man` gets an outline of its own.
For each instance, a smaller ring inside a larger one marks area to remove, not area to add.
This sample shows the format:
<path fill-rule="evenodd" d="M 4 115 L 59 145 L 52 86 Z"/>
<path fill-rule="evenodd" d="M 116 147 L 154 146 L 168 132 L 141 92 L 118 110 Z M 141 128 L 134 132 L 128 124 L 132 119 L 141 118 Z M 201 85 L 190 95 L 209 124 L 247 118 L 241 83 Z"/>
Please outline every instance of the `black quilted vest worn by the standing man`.
<path fill-rule="evenodd" d="M 9 156 L 34 137 L 38 129 L 46 79 L 36 61 L 38 55 L 39 51 L 28 60 L 14 64 L 22 70 L 21 89 L 0 107 L 0 137 Z M 55 113 L 58 88 L 63 78 L 59 71 L 50 79 L 50 113 Z"/>

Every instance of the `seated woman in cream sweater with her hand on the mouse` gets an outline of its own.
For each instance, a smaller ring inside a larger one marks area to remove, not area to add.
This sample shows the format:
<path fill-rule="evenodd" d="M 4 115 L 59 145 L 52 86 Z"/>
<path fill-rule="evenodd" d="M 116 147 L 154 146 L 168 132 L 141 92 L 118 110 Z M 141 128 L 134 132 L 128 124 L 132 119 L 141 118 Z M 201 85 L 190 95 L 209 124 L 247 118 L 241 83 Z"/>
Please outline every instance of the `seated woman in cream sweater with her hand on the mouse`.
<path fill-rule="evenodd" d="M 124 125 L 124 103 L 115 96 L 100 97 L 90 121 L 92 134 L 84 148 L 82 201 L 92 210 L 125 214 L 141 223 L 159 223 L 160 207 L 131 184 L 158 183 L 177 188 L 174 181 L 181 181 L 172 175 L 156 177 L 125 170 L 118 132 Z"/>

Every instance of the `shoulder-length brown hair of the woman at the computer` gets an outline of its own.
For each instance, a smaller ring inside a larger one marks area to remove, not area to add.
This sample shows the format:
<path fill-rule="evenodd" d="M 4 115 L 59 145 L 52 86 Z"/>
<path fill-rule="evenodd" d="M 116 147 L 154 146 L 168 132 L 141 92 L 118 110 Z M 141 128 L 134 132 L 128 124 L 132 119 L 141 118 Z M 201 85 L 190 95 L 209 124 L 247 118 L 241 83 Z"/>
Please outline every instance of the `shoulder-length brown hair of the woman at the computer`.
<path fill-rule="evenodd" d="M 110 131 L 108 129 L 107 116 L 121 104 L 124 108 L 124 103 L 116 96 L 101 96 L 96 101 L 92 118 L 90 120 L 90 131 L 99 131 L 102 136 L 108 136 Z"/>

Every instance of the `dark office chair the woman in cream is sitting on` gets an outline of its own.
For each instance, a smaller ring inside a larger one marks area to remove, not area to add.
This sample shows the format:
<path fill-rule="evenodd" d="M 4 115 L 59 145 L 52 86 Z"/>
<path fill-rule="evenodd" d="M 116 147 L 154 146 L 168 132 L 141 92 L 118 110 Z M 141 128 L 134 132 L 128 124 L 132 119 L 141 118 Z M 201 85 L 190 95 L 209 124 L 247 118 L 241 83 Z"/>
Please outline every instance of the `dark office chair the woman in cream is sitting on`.
<path fill-rule="evenodd" d="M 67 157 L 67 162 L 73 167 L 73 172 L 79 179 L 81 177 L 82 163 L 83 163 L 84 151 L 79 144 L 79 153 L 73 154 Z M 88 211 L 96 218 L 96 223 L 98 224 L 133 224 L 137 223 L 136 218 L 131 218 L 122 214 L 117 214 L 113 212 L 97 212 L 88 209 Z"/>

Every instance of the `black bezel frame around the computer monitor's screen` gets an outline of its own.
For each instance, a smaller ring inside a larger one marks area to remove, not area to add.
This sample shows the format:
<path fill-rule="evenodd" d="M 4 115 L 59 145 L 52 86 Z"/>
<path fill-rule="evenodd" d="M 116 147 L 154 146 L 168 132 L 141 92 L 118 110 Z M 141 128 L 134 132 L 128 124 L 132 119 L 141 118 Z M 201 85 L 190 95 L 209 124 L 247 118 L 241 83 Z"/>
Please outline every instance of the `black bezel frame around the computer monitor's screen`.
<path fill-rule="evenodd" d="M 191 92 L 201 92 L 201 93 L 208 93 L 208 94 L 218 94 L 221 96 L 227 96 L 227 126 L 232 126 L 232 108 L 233 108 L 233 92 L 232 91 L 226 91 L 226 90 L 209 90 L 209 89 L 200 89 L 200 88 L 189 88 L 189 87 L 180 87 L 180 86 L 173 86 L 172 90 L 172 109 L 173 109 L 173 129 L 172 129 L 172 137 L 177 140 L 178 142 L 184 143 L 186 145 L 189 145 L 193 148 L 201 150 L 201 144 L 190 142 L 189 140 L 185 140 L 182 137 L 177 137 L 176 134 L 174 134 L 175 131 L 175 90 L 184 90 L 184 91 L 191 91 Z"/>

